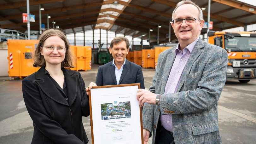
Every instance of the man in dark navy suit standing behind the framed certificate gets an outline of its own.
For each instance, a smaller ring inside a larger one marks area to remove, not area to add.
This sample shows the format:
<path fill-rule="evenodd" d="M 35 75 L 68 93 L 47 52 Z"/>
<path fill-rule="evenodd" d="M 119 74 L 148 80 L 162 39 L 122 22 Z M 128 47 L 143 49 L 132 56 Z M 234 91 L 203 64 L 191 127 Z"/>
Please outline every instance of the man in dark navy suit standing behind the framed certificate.
<path fill-rule="evenodd" d="M 126 59 L 129 45 L 126 37 L 115 37 L 111 41 L 109 52 L 114 59 L 99 66 L 95 82 L 97 86 L 140 83 L 141 89 L 145 89 L 141 66 Z"/>

